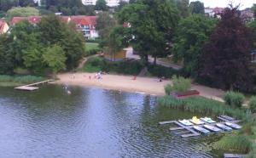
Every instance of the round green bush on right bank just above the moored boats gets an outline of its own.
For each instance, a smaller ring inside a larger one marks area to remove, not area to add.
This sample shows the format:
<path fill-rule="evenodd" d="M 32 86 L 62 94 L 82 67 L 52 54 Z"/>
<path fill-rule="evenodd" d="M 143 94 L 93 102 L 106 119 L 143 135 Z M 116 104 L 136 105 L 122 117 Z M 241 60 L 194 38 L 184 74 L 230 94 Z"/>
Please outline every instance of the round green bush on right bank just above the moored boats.
<path fill-rule="evenodd" d="M 245 97 L 242 93 L 229 91 L 224 94 L 225 103 L 233 107 L 240 108 L 244 100 L 245 100 Z"/>

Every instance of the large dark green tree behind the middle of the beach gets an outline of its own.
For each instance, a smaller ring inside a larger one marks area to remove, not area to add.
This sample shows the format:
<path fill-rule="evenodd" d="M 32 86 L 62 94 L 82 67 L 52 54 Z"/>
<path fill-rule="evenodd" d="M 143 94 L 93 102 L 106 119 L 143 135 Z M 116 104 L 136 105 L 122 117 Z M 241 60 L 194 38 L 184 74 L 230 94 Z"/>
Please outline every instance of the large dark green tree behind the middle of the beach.
<path fill-rule="evenodd" d="M 125 6 L 118 14 L 121 24 L 131 27 L 131 45 L 148 61 L 148 55 L 163 57 L 170 53 L 172 35 L 179 20 L 172 0 L 141 0 Z"/>

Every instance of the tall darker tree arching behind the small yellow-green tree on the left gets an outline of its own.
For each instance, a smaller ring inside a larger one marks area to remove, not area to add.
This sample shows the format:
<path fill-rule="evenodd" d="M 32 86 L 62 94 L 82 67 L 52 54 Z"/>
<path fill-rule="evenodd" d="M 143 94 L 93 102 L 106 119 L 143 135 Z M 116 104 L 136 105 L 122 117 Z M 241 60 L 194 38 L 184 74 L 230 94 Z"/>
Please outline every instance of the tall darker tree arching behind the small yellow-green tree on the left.
<path fill-rule="evenodd" d="M 60 45 L 63 48 L 67 60 L 67 69 L 71 70 L 78 65 L 79 59 L 84 54 L 84 37 L 77 31 L 75 25 L 67 25 L 57 16 L 50 15 L 42 18 L 38 24 L 41 31 L 41 42 L 44 47 Z"/>

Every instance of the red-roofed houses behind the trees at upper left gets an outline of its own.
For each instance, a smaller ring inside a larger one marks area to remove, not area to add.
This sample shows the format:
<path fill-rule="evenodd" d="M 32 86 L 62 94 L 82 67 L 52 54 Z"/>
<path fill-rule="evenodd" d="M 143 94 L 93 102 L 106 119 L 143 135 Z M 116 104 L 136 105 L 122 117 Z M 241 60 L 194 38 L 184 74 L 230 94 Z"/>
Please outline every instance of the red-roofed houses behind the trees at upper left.
<path fill-rule="evenodd" d="M 99 37 L 96 31 L 96 16 L 59 16 L 60 19 L 66 23 L 73 22 L 76 25 L 78 31 L 81 31 L 85 38 L 96 38 Z M 29 16 L 29 17 L 14 17 L 10 21 L 10 26 L 16 25 L 17 23 L 27 20 L 32 25 L 37 25 L 41 20 L 42 16 Z M 0 34 L 9 31 L 9 25 L 4 20 L 0 20 Z"/>

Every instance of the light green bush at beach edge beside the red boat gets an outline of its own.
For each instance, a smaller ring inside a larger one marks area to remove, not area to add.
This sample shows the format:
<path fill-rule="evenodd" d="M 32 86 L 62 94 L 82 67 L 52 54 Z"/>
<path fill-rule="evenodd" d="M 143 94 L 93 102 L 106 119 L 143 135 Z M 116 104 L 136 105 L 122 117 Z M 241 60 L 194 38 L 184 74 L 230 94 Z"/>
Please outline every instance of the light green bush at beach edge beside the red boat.
<path fill-rule="evenodd" d="M 172 89 L 177 92 L 186 92 L 191 87 L 191 80 L 183 76 L 172 76 Z"/>

